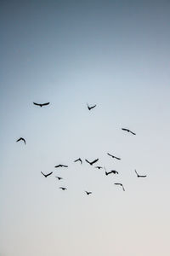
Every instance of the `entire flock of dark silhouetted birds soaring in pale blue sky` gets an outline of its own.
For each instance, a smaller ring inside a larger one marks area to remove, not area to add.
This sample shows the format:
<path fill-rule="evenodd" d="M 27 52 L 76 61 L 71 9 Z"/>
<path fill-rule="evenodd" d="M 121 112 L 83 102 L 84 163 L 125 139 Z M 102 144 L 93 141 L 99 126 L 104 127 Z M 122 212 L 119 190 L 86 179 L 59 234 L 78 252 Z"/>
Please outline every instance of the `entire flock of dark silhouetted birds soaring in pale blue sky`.
<path fill-rule="evenodd" d="M 40 108 L 42 108 L 42 107 L 44 107 L 44 106 L 48 106 L 49 104 L 50 104 L 50 102 L 47 102 L 47 103 L 36 103 L 36 102 L 33 102 L 33 104 L 34 105 L 36 105 L 36 106 L 39 106 Z M 94 105 L 94 106 L 89 106 L 88 105 L 88 103 L 87 103 L 87 107 L 88 107 L 88 110 L 90 111 L 90 110 L 92 110 L 93 108 L 95 108 L 97 105 Z M 127 128 L 122 128 L 122 131 L 127 131 L 127 132 L 129 132 L 129 133 L 131 133 L 131 134 L 133 134 L 133 135 L 136 135 L 136 133 L 134 133 L 133 131 L 130 131 L 129 129 L 127 129 Z M 26 144 L 26 139 L 25 138 L 23 138 L 23 137 L 20 137 L 16 142 L 18 143 L 18 142 L 20 142 L 20 141 L 23 141 L 25 144 Z M 109 156 L 111 156 L 111 158 L 113 158 L 113 159 L 116 159 L 116 160 L 121 160 L 121 158 L 119 158 L 119 157 L 116 157 L 115 155 L 112 155 L 112 154 L 110 154 L 110 153 L 107 153 Z M 90 165 L 90 166 L 93 166 L 96 162 L 98 162 L 98 160 L 99 159 L 95 159 L 95 160 L 93 160 L 93 161 L 89 161 L 89 160 L 87 160 L 87 159 L 85 159 L 85 161 Z M 74 162 L 76 163 L 76 162 L 80 162 L 80 164 L 82 165 L 82 159 L 81 158 L 78 158 L 77 160 L 74 160 Z M 59 164 L 58 166 L 54 166 L 55 168 L 59 168 L 59 167 L 65 167 L 65 168 L 67 168 L 68 166 L 66 166 L 66 165 L 63 165 L 63 164 Z M 97 168 L 97 169 L 102 169 L 102 168 L 104 168 L 105 169 L 105 166 L 103 167 L 103 166 L 94 166 L 94 168 Z M 134 172 L 136 173 L 136 175 L 137 175 L 137 177 L 147 177 L 146 175 L 139 175 L 139 173 L 136 171 L 136 170 L 134 170 Z M 47 174 L 45 174 L 45 173 L 43 173 L 43 172 L 41 172 L 42 173 L 42 175 L 44 176 L 44 177 L 48 177 L 48 176 L 50 176 L 50 175 L 52 175 L 53 174 L 53 172 L 49 172 L 49 173 L 47 173 Z M 111 170 L 111 172 L 106 172 L 106 169 L 105 169 L 105 175 L 106 176 L 108 176 L 108 175 L 110 175 L 110 174 L 118 174 L 118 172 L 116 171 L 116 170 Z M 56 176 L 59 180 L 61 180 L 61 179 L 63 179 L 63 177 L 58 177 L 58 176 Z M 123 184 L 122 183 L 114 183 L 115 185 L 118 185 L 118 186 L 121 186 L 122 187 L 122 190 L 123 191 L 125 191 L 125 188 L 124 188 L 124 186 L 123 186 Z M 59 187 L 59 189 L 62 189 L 62 190 L 66 190 L 67 188 L 65 188 L 65 187 Z M 92 191 L 86 191 L 85 190 L 85 193 L 87 194 L 87 195 L 90 195 L 90 194 L 92 194 Z"/>

